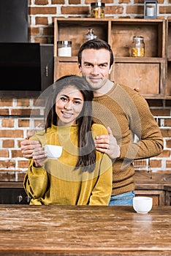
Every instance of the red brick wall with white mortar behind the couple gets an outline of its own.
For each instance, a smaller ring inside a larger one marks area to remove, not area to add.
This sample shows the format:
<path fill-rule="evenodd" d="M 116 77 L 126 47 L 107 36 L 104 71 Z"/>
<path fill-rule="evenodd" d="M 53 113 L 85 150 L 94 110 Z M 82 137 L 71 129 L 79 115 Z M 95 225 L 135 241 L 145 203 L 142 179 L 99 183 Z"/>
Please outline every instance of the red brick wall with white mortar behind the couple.
<path fill-rule="evenodd" d="M 89 17 L 93 0 L 29 0 L 29 42 L 53 43 L 54 17 Z M 143 0 L 105 0 L 105 15 L 113 18 L 142 18 Z M 158 18 L 171 18 L 171 0 L 158 1 Z M 23 181 L 27 159 L 20 153 L 20 140 L 42 121 L 44 109 L 34 108 L 34 98 L 0 99 L 0 181 Z M 170 100 L 148 100 L 153 116 L 171 116 Z M 31 118 L 30 118 L 31 115 Z M 151 159 L 153 171 L 171 172 L 171 124 L 161 121 L 164 151 Z"/>

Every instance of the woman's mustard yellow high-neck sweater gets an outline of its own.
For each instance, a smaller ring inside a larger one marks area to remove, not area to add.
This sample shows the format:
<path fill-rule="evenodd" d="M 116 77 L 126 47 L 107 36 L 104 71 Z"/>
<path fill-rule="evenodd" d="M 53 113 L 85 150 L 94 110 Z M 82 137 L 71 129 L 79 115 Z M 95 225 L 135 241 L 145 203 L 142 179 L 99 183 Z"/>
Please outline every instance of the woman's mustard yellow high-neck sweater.
<path fill-rule="evenodd" d="M 100 124 L 92 126 L 93 137 L 107 134 Z M 112 192 L 112 162 L 106 154 L 96 152 L 94 172 L 75 169 L 77 163 L 77 125 L 52 126 L 38 132 L 31 140 L 63 146 L 61 157 L 46 159 L 43 167 L 34 167 L 29 159 L 28 171 L 23 181 L 26 193 L 34 205 L 108 205 Z"/>

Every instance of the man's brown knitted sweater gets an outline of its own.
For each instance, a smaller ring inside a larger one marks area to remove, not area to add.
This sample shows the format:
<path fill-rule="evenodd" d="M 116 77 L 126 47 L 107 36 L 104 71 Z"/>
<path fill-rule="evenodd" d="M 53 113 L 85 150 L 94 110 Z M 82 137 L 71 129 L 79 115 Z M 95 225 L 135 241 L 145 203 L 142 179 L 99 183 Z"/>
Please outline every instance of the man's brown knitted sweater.
<path fill-rule="evenodd" d="M 156 156 L 163 148 L 161 132 L 148 104 L 133 89 L 114 84 L 106 95 L 94 97 L 93 110 L 94 121 L 109 126 L 121 146 L 121 157 L 113 164 L 112 195 L 132 191 L 133 159 Z M 134 135 L 140 139 L 138 143 L 134 143 Z"/>

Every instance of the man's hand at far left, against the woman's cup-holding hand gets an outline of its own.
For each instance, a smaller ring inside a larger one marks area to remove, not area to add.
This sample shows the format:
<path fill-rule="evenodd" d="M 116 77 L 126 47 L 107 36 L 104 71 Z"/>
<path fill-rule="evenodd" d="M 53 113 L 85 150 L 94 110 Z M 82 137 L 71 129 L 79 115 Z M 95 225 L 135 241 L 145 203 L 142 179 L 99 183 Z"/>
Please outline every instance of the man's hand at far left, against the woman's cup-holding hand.
<path fill-rule="evenodd" d="M 25 139 L 22 140 L 20 143 L 20 149 L 23 154 L 23 157 L 25 158 L 32 158 L 34 149 L 41 147 L 41 144 L 37 140 Z"/>

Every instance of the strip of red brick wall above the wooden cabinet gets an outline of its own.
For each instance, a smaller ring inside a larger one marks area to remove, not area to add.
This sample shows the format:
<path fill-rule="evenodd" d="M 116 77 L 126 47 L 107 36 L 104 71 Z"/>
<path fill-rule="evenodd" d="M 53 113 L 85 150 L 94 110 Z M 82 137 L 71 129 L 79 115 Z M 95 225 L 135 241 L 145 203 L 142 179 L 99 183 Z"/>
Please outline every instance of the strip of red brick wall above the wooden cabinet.
<path fill-rule="evenodd" d="M 53 43 L 54 17 L 90 17 L 94 0 L 29 0 L 29 35 L 31 42 Z M 143 18 L 143 0 L 102 0 L 105 16 Z M 171 18 L 171 0 L 158 0 L 158 18 Z"/>

